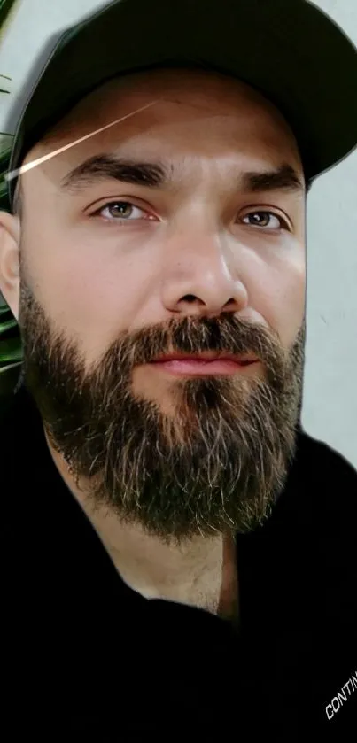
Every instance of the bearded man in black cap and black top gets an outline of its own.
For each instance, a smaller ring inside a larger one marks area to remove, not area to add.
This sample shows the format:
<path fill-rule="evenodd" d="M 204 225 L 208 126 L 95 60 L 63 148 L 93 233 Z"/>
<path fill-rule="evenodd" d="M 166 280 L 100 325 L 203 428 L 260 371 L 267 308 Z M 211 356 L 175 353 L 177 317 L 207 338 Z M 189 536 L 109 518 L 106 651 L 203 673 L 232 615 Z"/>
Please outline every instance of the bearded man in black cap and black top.
<path fill-rule="evenodd" d="M 357 142 L 356 82 L 304 0 L 123 0 L 35 86 L 0 220 L 23 344 L 3 642 L 27 731 L 343 739 L 357 477 L 299 414 L 307 190 Z"/>

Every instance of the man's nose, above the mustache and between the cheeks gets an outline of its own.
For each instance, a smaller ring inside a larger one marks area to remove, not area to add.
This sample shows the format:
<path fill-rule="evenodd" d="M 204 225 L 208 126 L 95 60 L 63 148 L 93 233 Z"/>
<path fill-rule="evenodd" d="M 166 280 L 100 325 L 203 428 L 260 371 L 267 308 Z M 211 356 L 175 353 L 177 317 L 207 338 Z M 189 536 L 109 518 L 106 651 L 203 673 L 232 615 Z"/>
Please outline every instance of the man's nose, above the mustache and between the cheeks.
<path fill-rule="evenodd" d="M 207 232 L 175 236 L 165 247 L 162 301 L 182 315 L 218 316 L 238 313 L 248 292 L 237 266 L 237 245 Z"/>

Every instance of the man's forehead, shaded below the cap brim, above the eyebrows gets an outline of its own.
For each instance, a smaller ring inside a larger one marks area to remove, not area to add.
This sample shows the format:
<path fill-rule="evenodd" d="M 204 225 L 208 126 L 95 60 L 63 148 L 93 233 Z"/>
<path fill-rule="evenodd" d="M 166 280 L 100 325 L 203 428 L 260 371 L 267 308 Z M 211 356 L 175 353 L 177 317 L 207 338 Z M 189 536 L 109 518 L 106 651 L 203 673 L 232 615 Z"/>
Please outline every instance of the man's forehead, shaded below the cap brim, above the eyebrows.
<path fill-rule="evenodd" d="M 248 158 L 262 151 L 300 165 L 294 135 L 274 104 L 244 82 L 188 69 L 131 74 L 105 83 L 74 106 L 24 162 L 49 155 L 30 173 L 62 177 L 103 150 L 128 146 L 133 154 L 138 150 L 150 157 L 158 147 L 162 154 L 167 148 L 165 154 L 174 160 L 175 154 L 207 154 L 213 142 L 215 155 L 220 147 L 222 155 L 235 150 Z"/>

